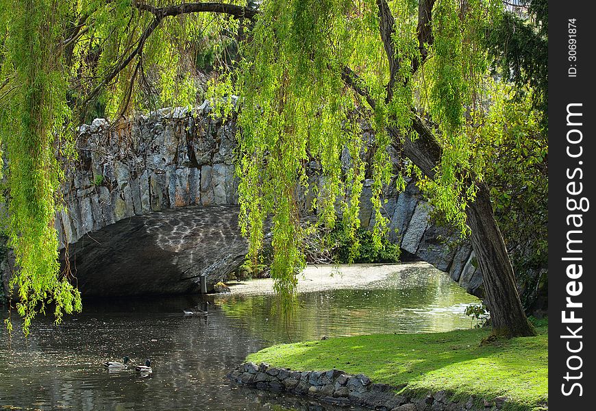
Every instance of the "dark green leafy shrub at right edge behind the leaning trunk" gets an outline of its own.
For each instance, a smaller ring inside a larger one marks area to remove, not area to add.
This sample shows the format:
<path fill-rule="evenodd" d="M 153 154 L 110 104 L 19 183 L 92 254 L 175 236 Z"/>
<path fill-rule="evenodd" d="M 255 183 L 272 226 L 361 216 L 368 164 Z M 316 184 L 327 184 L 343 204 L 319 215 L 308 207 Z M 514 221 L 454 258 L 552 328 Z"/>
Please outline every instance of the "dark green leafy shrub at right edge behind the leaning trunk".
<path fill-rule="evenodd" d="M 507 242 L 511 263 L 521 287 L 521 302 L 532 310 L 548 266 L 548 141 L 536 98 L 525 90 L 506 88 L 496 95 L 487 121 L 497 130 L 486 136 L 486 149 L 495 152 L 487 163 L 495 218 Z M 514 98 L 512 98 L 514 97 Z M 544 290 L 543 290 L 544 291 Z M 538 307 L 540 308 L 540 307 Z"/>

